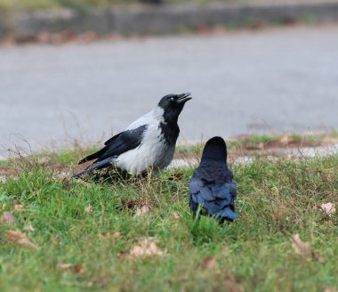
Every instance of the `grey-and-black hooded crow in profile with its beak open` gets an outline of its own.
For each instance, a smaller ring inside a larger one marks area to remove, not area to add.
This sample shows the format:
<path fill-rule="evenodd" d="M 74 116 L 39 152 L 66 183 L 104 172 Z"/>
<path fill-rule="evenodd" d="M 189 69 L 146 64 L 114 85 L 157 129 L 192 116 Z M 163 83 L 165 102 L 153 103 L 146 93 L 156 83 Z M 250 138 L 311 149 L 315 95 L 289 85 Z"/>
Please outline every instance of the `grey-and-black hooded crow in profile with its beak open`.
<path fill-rule="evenodd" d="M 112 165 L 133 174 L 164 169 L 173 160 L 180 134 L 177 120 L 190 94 L 165 95 L 154 110 L 110 138 L 101 150 L 83 158 L 78 164 L 94 160 L 93 164 L 73 177 Z"/>

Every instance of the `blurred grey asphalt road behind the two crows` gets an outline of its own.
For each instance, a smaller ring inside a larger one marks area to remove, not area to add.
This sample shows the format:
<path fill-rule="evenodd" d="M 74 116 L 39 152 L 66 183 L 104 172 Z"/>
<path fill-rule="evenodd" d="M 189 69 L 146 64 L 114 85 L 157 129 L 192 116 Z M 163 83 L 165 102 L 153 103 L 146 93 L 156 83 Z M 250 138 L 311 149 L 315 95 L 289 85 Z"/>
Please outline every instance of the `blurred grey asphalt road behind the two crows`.
<path fill-rule="evenodd" d="M 99 142 L 166 93 L 193 93 L 181 141 L 337 129 L 337 68 L 334 25 L 2 46 L 0 155 Z"/>

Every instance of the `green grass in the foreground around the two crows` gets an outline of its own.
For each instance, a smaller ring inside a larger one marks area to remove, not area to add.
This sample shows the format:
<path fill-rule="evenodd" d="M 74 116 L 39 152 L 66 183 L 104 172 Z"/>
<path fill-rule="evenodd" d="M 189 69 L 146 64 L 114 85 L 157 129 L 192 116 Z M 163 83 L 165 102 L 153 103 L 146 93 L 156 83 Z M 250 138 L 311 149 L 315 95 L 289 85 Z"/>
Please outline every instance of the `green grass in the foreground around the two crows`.
<path fill-rule="evenodd" d="M 63 151 L 52 155 L 47 166 L 37 158 L 1 166 L 11 175 L 0 183 L 0 213 L 11 212 L 16 223 L 0 224 L 0 291 L 338 288 L 338 216 L 318 209 L 322 203 L 338 204 L 338 156 L 257 158 L 231 166 L 240 219 L 222 226 L 213 218 L 191 217 L 192 168 L 142 181 L 84 184 L 61 179 L 59 172 L 73 167 L 79 156 Z M 149 213 L 135 216 L 143 205 Z M 29 223 L 35 231 L 28 231 Z M 15 229 L 40 248 L 6 239 L 6 232 Z M 120 235 L 111 236 L 116 232 Z M 294 233 L 325 263 L 296 255 Z M 143 237 L 156 238 L 165 255 L 130 258 Z M 204 264 L 207 256 L 216 263 Z"/>

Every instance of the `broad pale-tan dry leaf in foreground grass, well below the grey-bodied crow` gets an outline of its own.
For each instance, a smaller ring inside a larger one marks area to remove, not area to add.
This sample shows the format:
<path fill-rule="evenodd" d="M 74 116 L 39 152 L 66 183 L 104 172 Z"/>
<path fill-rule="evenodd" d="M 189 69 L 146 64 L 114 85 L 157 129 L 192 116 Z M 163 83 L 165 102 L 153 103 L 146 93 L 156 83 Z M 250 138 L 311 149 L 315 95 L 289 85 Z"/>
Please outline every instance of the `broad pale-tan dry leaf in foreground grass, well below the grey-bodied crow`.
<path fill-rule="evenodd" d="M 139 239 L 139 245 L 132 247 L 129 259 L 146 258 L 157 255 L 165 255 L 165 252 L 157 247 L 157 240 L 154 238 Z"/>

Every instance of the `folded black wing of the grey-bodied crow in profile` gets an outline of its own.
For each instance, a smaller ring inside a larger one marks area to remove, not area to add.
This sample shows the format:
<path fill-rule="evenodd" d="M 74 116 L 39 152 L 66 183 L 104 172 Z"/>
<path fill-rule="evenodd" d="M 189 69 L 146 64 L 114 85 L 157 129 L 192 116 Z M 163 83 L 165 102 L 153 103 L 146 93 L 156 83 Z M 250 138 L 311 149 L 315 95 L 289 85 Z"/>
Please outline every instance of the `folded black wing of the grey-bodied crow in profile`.
<path fill-rule="evenodd" d="M 96 162 L 110 157 L 117 157 L 126 151 L 133 150 L 141 145 L 142 137 L 148 126 L 139 126 L 133 130 L 125 130 L 116 134 L 105 142 L 105 147 L 82 159 L 78 164 L 97 159 Z"/>

